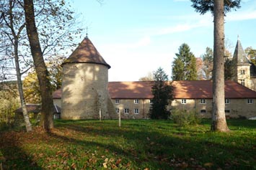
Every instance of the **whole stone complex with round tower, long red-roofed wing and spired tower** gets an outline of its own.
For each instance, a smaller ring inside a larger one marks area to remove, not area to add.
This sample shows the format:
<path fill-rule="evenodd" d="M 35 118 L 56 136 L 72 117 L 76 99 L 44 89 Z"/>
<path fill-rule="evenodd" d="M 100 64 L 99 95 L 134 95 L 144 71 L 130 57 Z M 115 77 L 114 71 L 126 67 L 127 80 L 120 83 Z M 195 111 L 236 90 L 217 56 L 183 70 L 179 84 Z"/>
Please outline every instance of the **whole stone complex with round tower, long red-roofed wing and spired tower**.
<path fill-rule="evenodd" d="M 244 57 L 239 41 L 233 62 L 237 62 L 237 78 L 225 81 L 226 116 L 256 117 L 254 65 Z M 95 119 L 100 113 L 102 118 L 118 118 L 119 113 L 127 119 L 149 118 L 154 82 L 108 82 L 108 69 L 110 65 L 86 37 L 63 62 L 63 85 L 53 93 L 53 102 L 61 108 L 61 118 Z M 170 101 L 169 110 L 195 110 L 211 118 L 211 81 L 173 81 L 172 87 L 174 100 Z"/>

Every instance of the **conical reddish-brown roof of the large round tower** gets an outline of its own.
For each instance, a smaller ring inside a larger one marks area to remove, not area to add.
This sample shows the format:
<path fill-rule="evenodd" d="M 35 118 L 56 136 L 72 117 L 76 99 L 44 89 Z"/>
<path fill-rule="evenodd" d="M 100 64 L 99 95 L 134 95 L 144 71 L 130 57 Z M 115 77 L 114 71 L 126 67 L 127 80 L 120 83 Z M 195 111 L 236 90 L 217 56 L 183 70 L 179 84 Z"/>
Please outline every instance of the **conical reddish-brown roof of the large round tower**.
<path fill-rule="evenodd" d="M 84 38 L 84 40 L 79 44 L 78 47 L 76 47 L 69 58 L 63 62 L 63 65 L 67 63 L 94 63 L 105 65 L 110 69 L 110 65 L 105 62 L 88 37 Z"/>

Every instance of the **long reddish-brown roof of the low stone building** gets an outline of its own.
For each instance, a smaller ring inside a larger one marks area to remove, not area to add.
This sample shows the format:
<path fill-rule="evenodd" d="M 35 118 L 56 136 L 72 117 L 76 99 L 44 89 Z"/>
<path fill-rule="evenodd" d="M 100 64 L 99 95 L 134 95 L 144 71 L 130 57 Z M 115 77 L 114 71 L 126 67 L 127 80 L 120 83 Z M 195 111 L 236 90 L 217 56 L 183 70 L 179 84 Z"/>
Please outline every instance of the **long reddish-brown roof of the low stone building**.
<path fill-rule="evenodd" d="M 152 81 L 108 82 L 108 92 L 112 99 L 150 99 L 153 98 Z M 213 98 L 212 81 L 173 81 L 175 99 Z M 61 98 L 61 89 L 53 93 L 53 98 Z M 225 81 L 225 98 L 256 98 L 256 92 L 237 82 Z"/>

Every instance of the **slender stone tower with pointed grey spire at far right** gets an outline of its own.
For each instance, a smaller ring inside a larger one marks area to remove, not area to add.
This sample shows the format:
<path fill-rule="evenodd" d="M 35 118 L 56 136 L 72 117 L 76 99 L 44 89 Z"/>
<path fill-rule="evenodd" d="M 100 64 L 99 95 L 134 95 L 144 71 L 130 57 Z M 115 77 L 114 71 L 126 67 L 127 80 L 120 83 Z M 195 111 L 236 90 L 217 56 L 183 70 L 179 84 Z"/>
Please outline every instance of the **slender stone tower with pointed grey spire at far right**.
<path fill-rule="evenodd" d="M 234 64 L 234 78 L 233 80 L 240 84 L 250 88 L 250 61 L 246 57 L 244 49 L 239 39 L 237 39 L 237 45 L 233 55 Z"/>

